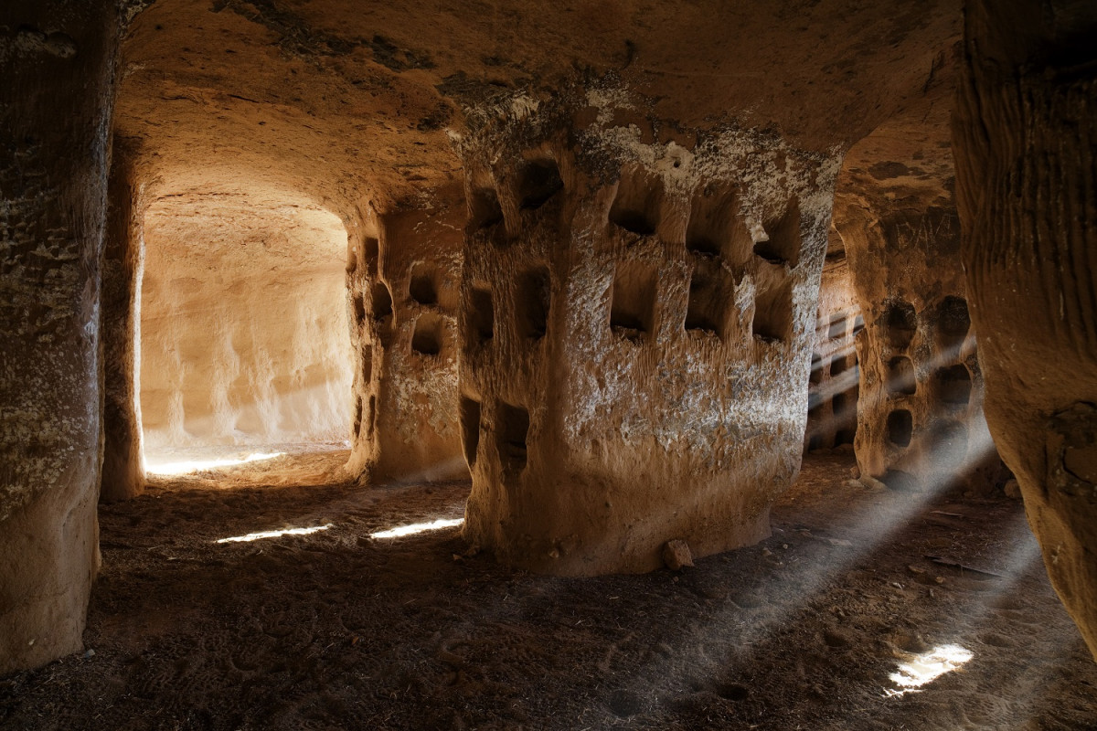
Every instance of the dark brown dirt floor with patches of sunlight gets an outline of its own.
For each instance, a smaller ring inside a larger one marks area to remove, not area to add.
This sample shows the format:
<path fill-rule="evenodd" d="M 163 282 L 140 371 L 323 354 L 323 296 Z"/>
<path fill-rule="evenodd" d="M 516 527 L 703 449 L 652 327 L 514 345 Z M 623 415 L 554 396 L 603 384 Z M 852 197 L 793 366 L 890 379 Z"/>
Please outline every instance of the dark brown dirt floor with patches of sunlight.
<path fill-rule="evenodd" d="M 1097 729 L 1097 664 L 1021 504 L 851 467 L 810 456 L 759 546 L 599 579 L 506 569 L 452 526 L 371 537 L 460 518 L 467 483 L 160 479 L 102 509 L 88 650 L 0 678 L 0 727 Z M 893 679 L 949 646 L 951 672 Z"/>

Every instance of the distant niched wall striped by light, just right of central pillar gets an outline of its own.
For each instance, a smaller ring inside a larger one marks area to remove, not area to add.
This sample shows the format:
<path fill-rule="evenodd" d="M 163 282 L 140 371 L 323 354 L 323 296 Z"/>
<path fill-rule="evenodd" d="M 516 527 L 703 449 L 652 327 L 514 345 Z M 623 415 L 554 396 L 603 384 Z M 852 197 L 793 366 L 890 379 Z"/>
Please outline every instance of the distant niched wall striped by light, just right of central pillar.
<path fill-rule="evenodd" d="M 816 349 L 808 376 L 806 449 L 853 444 L 860 367 L 855 341 L 864 329 L 861 315 L 833 312 L 816 322 Z"/>

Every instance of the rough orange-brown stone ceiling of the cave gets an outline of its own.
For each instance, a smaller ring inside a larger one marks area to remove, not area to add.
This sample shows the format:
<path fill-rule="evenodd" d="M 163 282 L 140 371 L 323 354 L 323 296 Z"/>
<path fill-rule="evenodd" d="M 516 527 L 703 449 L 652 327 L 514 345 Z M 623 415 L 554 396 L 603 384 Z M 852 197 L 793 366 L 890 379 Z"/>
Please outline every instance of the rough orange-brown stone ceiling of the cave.
<path fill-rule="evenodd" d="M 959 27 L 954 0 L 158 0 L 116 124 L 154 197 L 260 186 L 348 217 L 460 196 L 463 106 L 580 77 L 617 75 L 661 139 L 734 121 L 848 148 L 925 96 Z"/>

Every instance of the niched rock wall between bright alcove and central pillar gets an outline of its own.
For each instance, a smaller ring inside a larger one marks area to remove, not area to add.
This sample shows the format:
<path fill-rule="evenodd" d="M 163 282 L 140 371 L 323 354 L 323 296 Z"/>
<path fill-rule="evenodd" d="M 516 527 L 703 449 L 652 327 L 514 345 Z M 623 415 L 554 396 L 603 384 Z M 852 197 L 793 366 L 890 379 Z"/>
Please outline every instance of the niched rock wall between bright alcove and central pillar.
<path fill-rule="evenodd" d="M 348 261 L 358 351 L 352 473 L 374 482 L 467 475 L 456 399 L 457 221 L 380 216 Z M 443 214 L 444 215 L 444 214 Z"/>

